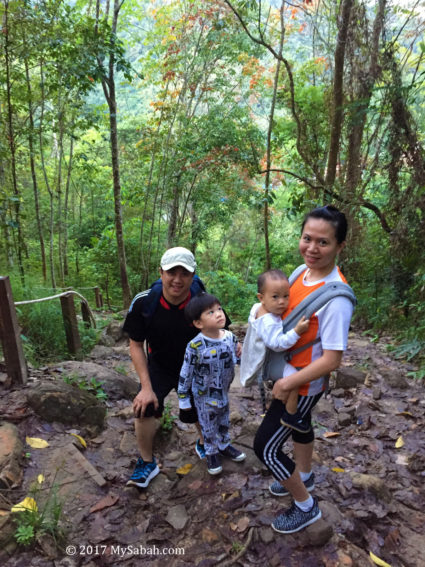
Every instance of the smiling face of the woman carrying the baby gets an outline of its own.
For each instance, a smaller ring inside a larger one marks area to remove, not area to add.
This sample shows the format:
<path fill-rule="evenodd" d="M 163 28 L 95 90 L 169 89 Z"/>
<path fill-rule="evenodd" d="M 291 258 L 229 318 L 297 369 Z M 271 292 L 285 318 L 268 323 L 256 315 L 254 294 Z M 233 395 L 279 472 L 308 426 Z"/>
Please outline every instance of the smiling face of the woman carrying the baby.
<path fill-rule="evenodd" d="M 344 248 L 345 241 L 338 243 L 334 226 L 324 220 L 309 218 L 300 239 L 300 252 L 310 270 L 326 275 L 332 271 L 335 259 Z"/>

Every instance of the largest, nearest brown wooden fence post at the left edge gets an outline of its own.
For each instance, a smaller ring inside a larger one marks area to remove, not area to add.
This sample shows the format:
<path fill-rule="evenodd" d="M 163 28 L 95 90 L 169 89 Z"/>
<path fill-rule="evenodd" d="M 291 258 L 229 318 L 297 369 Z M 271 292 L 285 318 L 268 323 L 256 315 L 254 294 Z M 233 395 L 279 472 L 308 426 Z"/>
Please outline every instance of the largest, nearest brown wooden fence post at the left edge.
<path fill-rule="evenodd" d="M 28 370 L 8 276 L 0 276 L 0 337 L 7 375 L 12 383 L 26 384 Z"/>

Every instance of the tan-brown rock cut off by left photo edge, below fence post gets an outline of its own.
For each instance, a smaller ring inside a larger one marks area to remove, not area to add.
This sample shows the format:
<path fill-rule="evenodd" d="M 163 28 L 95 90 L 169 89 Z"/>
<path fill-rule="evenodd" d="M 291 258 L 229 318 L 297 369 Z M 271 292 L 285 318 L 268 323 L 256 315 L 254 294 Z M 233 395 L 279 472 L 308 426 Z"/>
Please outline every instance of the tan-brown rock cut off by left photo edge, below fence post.
<path fill-rule="evenodd" d="M 3 423 L 0 425 L 0 488 L 21 484 L 22 455 L 23 445 L 17 428 L 12 423 Z"/>

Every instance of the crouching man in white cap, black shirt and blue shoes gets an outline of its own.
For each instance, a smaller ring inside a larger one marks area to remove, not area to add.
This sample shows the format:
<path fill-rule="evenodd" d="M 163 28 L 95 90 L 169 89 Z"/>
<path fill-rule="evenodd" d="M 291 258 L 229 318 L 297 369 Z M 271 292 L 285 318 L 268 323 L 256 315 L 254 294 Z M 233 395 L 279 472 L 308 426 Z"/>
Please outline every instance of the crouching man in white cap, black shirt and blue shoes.
<path fill-rule="evenodd" d="M 133 299 L 124 331 L 130 337 L 130 355 L 141 390 L 133 400 L 135 431 L 141 457 L 127 485 L 146 488 L 159 473 L 153 456 L 155 418 L 161 417 L 164 399 L 177 389 L 187 343 L 197 329 L 186 321 L 184 307 L 204 290 L 195 276 L 195 258 L 186 248 L 170 248 L 161 258 L 161 279 Z M 148 346 L 146 359 L 143 343 Z M 194 404 L 192 404 L 194 408 Z M 196 452 L 205 457 L 203 437 L 195 409 L 181 411 L 180 420 L 195 423 L 199 431 Z"/>

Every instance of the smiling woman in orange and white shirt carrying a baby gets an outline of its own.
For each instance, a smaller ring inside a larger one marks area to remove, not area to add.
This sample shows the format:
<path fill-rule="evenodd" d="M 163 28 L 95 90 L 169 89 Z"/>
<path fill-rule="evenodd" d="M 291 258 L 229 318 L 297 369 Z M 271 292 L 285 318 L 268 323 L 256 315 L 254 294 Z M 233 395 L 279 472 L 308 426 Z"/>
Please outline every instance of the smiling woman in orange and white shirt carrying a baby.
<path fill-rule="evenodd" d="M 299 243 L 306 269 L 291 287 L 290 303 L 284 316 L 319 286 L 330 281 L 346 282 L 335 265 L 337 255 L 345 246 L 346 234 L 345 215 L 333 206 L 319 207 L 306 215 Z M 314 489 L 313 429 L 299 433 L 282 425 L 284 400 L 290 390 L 298 388 L 298 410 L 311 424 L 311 410 L 326 389 L 329 373 L 338 368 L 347 348 L 352 311 L 352 303 L 347 298 L 335 297 L 311 317 L 309 330 L 294 348 L 316 337 L 320 341 L 293 356 L 291 364 L 298 372 L 275 382 L 274 399 L 255 437 L 257 457 L 277 479 L 270 486 L 270 492 L 276 496 L 290 494 L 294 499 L 289 510 L 272 523 L 272 528 L 280 533 L 297 532 L 321 518 L 317 499 L 309 494 Z M 282 451 L 290 435 L 295 463 Z"/>

